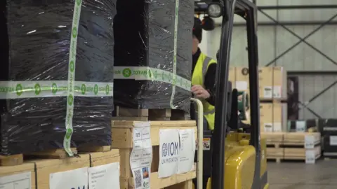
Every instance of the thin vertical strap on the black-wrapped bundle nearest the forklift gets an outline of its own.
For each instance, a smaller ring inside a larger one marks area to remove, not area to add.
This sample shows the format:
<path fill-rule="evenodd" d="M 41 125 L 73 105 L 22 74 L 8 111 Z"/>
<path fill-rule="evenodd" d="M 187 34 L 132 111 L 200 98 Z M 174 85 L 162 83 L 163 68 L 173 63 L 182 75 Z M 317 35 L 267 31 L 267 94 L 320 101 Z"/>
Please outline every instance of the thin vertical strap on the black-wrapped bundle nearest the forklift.
<path fill-rule="evenodd" d="M 179 16 L 179 0 L 176 0 L 175 16 L 174 16 L 174 47 L 173 47 L 173 84 L 170 100 L 171 109 L 176 109 L 173 105 L 174 94 L 176 94 L 177 80 L 177 41 L 178 41 L 178 16 Z"/>

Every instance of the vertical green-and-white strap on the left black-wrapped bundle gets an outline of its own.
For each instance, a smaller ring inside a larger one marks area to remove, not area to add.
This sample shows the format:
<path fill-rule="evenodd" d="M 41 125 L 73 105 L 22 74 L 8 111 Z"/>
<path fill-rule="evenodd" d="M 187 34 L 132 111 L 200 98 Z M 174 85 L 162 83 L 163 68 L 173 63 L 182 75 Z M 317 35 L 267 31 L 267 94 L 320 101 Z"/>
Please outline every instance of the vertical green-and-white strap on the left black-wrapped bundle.
<path fill-rule="evenodd" d="M 74 5 L 74 15 L 72 17 L 72 35 L 70 38 L 69 52 L 69 69 L 68 69 L 68 88 L 67 88 L 67 115 L 65 118 L 65 139 L 63 140 L 63 148 L 69 156 L 74 156 L 70 148 L 72 141 L 72 117 L 74 116 L 74 90 L 75 90 L 75 68 L 76 68 L 76 50 L 77 50 L 77 34 L 79 28 L 79 17 L 81 16 L 82 1 L 76 0 Z"/>

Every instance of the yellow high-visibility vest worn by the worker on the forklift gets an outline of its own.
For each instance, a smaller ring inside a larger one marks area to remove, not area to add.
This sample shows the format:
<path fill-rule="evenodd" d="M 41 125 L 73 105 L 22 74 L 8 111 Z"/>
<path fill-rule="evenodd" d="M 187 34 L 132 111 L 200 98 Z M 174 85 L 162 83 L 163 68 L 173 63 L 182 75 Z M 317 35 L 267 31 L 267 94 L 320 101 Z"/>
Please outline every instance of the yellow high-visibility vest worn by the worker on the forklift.
<path fill-rule="evenodd" d="M 197 64 L 194 67 L 194 71 L 192 74 L 192 85 L 201 85 L 204 86 L 204 78 L 206 76 L 207 69 L 209 65 L 216 64 L 214 59 L 207 57 L 203 53 L 200 53 L 199 59 Z M 214 106 L 206 102 L 206 100 L 201 100 L 202 104 L 204 105 L 204 117 L 209 124 L 209 130 L 214 130 L 214 119 L 216 116 L 216 109 Z"/>

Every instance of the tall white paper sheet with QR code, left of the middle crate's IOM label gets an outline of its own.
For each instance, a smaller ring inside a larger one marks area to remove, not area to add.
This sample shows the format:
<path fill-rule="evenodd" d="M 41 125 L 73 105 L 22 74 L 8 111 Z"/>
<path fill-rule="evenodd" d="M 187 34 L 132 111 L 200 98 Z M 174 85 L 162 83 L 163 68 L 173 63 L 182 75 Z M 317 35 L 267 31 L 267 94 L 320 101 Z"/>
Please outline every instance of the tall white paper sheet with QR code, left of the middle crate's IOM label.
<path fill-rule="evenodd" d="M 135 189 L 150 188 L 152 143 L 150 122 L 136 123 L 133 128 L 133 148 L 130 166 Z"/>

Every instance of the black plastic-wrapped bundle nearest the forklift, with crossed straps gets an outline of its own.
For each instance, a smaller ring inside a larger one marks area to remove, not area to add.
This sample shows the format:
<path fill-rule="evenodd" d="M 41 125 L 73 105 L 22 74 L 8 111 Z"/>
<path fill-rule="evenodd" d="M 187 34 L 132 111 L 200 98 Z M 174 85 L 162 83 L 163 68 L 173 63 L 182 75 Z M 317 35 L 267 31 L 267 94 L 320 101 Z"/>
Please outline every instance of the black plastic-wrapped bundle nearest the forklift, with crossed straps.
<path fill-rule="evenodd" d="M 193 14 L 192 0 L 117 1 L 115 105 L 190 111 Z"/>

